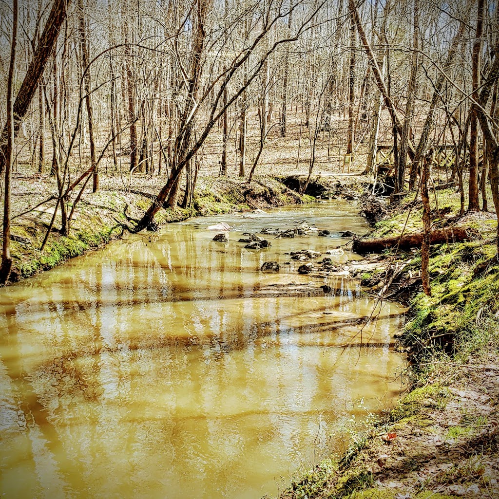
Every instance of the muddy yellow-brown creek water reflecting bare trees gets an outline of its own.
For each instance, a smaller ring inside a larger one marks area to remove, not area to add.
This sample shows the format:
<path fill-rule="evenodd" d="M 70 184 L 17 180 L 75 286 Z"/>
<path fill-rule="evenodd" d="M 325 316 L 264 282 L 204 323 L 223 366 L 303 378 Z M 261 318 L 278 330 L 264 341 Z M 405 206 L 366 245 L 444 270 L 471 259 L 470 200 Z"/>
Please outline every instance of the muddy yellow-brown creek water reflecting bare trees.
<path fill-rule="evenodd" d="M 207 229 L 221 221 L 227 244 Z M 303 221 L 331 237 L 236 242 Z M 285 253 L 366 229 L 340 202 L 191 219 L 1 289 L 1 497 L 257 499 L 341 449 L 352 415 L 399 394 L 404 309 Z"/>

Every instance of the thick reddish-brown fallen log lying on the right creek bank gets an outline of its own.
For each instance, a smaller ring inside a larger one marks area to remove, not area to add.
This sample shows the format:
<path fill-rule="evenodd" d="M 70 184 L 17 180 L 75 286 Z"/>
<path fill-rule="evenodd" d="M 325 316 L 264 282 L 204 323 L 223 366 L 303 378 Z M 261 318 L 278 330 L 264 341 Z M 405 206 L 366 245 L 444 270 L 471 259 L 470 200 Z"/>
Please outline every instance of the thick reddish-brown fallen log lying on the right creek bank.
<path fill-rule="evenodd" d="M 474 231 L 469 227 L 436 229 L 432 231 L 430 245 L 462 243 L 463 241 L 471 241 L 474 236 Z M 354 239 L 353 250 L 359 254 L 381 253 L 396 247 L 400 250 L 410 250 L 411 248 L 421 248 L 422 242 L 422 232 L 402 237 Z"/>

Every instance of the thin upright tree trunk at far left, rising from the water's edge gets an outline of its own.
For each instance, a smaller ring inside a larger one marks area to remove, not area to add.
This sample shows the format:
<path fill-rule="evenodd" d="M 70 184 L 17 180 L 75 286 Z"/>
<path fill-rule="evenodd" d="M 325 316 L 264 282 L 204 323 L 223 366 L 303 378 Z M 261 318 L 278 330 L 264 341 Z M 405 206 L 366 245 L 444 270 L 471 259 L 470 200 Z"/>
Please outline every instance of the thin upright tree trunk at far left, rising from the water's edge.
<path fill-rule="evenodd" d="M 12 40 L 10 44 L 10 62 L 7 76 L 7 123 L 8 130 L 5 157 L 5 187 L 3 198 L 3 240 L 0 266 L 0 284 L 5 284 L 12 268 L 10 257 L 10 174 L 14 161 L 14 69 L 15 45 L 17 43 L 17 0 L 12 0 Z"/>

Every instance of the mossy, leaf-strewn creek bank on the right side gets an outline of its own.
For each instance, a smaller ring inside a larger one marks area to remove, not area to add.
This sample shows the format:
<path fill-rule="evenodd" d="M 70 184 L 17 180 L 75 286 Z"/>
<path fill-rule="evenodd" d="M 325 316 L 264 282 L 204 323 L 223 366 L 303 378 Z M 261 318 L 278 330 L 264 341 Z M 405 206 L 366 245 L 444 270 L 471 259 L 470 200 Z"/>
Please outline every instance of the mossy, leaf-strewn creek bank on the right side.
<path fill-rule="evenodd" d="M 412 361 L 411 390 L 280 498 L 499 497 L 497 217 L 460 217 L 452 189 L 435 191 L 432 204 L 433 228 L 467 227 L 474 240 L 431 247 L 431 297 L 421 289 L 418 249 L 385 251 L 372 257 L 374 270 L 353 272 L 366 292 L 410 305 L 399 348 Z M 364 209 L 371 236 L 421 230 L 414 194 L 390 206 L 365 198 Z"/>

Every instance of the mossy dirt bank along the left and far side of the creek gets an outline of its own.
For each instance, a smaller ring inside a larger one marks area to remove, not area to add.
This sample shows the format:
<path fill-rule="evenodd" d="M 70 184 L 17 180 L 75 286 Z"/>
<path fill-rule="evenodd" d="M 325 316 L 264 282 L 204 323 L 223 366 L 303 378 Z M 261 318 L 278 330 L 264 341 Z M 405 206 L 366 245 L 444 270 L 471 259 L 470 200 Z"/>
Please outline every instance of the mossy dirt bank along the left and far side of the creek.
<path fill-rule="evenodd" d="M 87 192 L 83 195 L 75 209 L 68 237 L 58 233 L 60 216 L 56 217 L 54 229 L 43 251 L 40 251 L 54 211 L 55 200 L 49 199 L 52 194 L 50 187 L 55 190 L 52 185 L 54 181 L 48 175 L 18 175 L 13 193 L 13 266 L 10 282 L 52 268 L 68 258 L 122 237 L 126 227 L 140 219 L 149 206 L 158 191 L 155 185 L 157 182 L 157 178 L 143 176 L 134 179 L 133 188 L 127 188 L 119 177 L 107 179 L 102 182 L 97 193 Z M 198 215 L 250 211 L 312 201 L 312 197 L 300 196 L 270 176 L 255 176 L 251 185 L 238 178 L 203 178 L 198 181 L 192 208 L 161 210 L 155 220 L 161 226 Z"/>

